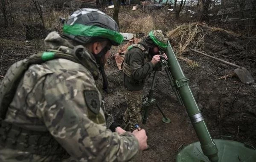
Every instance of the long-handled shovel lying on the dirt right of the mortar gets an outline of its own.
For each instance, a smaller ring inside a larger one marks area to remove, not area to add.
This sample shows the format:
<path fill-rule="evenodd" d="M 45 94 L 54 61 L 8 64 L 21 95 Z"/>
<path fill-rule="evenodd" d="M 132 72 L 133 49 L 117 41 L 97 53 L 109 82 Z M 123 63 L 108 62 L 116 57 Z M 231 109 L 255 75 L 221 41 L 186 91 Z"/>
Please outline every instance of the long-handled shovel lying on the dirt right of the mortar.
<path fill-rule="evenodd" d="M 231 66 L 233 66 L 233 67 L 237 67 L 234 71 L 235 71 L 236 75 L 238 76 L 238 78 L 239 78 L 243 83 L 245 83 L 245 84 L 250 84 L 250 83 L 253 83 L 253 82 L 254 82 L 254 79 L 253 79 L 252 75 L 251 75 L 250 72 L 249 72 L 247 69 L 245 69 L 244 67 L 240 67 L 240 66 L 238 66 L 238 65 L 232 64 L 232 63 L 227 62 L 227 61 L 224 61 L 224 60 L 221 60 L 221 59 L 219 59 L 219 58 L 215 58 L 215 57 L 210 56 L 210 55 L 207 55 L 207 54 L 205 54 L 205 53 L 203 53 L 203 52 L 199 52 L 199 51 L 197 51 L 197 50 L 195 50 L 195 49 L 190 49 L 190 50 L 191 50 L 191 51 L 194 51 L 194 52 L 197 52 L 197 53 L 199 53 L 199 54 L 201 54 L 201 55 L 207 56 L 207 57 L 209 57 L 209 58 L 213 58 L 213 59 L 215 59 L 215 60 L 221 61 L 221 62 L 224 63 L 224 64 L 231 65 Z"/>

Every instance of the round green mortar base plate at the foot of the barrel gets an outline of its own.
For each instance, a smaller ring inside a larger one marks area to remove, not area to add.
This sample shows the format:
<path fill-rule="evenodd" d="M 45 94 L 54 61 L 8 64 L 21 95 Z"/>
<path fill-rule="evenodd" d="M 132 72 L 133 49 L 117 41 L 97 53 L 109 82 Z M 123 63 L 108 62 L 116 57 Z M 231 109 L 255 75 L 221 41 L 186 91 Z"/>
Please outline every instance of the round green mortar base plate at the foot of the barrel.
<path fill-rule="evenodd" d="M 214 139 L 218 148 L 218 162 L 256 162 L 256 150 L 241 142 Z M 189 144 L 176 157 L 176 162 L 210 162 L 204 155 L 200 142 Z"/>

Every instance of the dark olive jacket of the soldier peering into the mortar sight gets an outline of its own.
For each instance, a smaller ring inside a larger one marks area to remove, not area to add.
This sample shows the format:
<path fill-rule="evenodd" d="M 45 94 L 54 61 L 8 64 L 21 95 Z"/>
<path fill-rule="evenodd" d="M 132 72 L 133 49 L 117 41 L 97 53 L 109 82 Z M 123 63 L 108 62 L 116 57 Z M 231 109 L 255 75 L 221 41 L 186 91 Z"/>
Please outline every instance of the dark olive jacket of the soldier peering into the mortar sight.
<path fill-rule="evenodd" d="M 143 45 L 148 52 L 144 40 L 139 44 Z M 131 76 L 124 74 L 124 86 L 127 90 L 138 91 L 142 90 L 145 85 L 145 78 L 154 70 L 154 64 L 151 62 L 151 56 L 145 54 L 140 48 L 134 47 L 128 50 L 125 54 L 124 63 L 128 64 L 131 68 Z"/>

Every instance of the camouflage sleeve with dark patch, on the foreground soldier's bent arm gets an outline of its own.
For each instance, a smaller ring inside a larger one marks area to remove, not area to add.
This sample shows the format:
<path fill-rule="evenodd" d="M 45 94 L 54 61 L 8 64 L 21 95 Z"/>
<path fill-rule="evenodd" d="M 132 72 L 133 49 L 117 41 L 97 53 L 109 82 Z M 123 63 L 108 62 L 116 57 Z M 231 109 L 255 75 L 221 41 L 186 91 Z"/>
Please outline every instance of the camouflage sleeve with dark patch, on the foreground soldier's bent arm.
<path fill-rule="evenodd" d="M 128 161 L 139 144 L 131 133 L 119 136 L 106 128 L 101 95 L 89 72 L 50 74 L 44 82 L 38 116 L 47 129 L 79 161 Z"/>

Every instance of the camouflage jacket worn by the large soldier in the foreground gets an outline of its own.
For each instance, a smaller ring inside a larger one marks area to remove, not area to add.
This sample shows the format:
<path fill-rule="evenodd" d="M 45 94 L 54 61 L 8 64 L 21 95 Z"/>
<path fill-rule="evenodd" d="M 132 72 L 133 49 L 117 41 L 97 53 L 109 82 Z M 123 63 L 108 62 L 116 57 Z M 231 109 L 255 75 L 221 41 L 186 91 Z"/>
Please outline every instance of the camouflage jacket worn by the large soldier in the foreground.
<path fill-rule="evenodd" d="M 71 53 L 74 46 L 58 33 L 45 39 L 50 51 Z M 85 52 L 92 65 L 94 58 Z M 130 132 L 119 136 L 107 129 L 92 69 L 67 59 L 34 64 L 25 72 L 7 110 L 5 121 L 27 130 L 49 131 L 67 151 L 60 161 L 125 162 L 139 150 Z M 7 73 L 8 74 L 8 73 Z M 1 162 L 50 162 L 39 156 L 0 145 Z"/>

